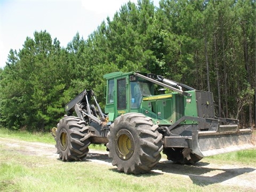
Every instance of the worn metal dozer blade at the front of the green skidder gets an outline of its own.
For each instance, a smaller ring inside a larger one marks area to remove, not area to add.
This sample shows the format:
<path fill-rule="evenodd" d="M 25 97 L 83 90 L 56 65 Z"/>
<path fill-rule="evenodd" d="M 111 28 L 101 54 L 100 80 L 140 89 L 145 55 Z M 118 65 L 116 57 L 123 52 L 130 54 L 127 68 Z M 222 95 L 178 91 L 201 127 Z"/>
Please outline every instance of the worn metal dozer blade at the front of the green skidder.
<path fill-rule="evenodd" d="M 238 129 L 237 125 L 220 125 L 217 131 L 193 131 L 190 148 L 193 153 L 206 157 L 256 146 L 252 143 L 251 129 Z"/>

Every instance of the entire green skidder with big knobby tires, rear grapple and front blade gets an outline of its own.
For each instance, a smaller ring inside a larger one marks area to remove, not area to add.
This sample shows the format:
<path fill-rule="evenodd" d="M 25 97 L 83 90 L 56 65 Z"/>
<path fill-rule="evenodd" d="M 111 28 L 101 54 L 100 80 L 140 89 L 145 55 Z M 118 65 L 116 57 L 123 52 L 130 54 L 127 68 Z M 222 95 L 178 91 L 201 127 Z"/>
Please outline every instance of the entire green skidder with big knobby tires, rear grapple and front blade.
<path fill-rule="evenodd" d="M 103 77 L 105 114 L 93 91 L 84 90 L 67 103 L 67 115 L 53 128 L 62 161 L 85 158 L 91 143 L 106 144 L 119 171 L 139 174 L 153 169 L 161 151 L 174 163 L 193 164 L 254 147 L 251 129 L 239 129 L 237 119 L 215 117 L 211 92 L 153 74 L 114 72 Z M 155 94 L 156 85 L 173 92 Z"/>

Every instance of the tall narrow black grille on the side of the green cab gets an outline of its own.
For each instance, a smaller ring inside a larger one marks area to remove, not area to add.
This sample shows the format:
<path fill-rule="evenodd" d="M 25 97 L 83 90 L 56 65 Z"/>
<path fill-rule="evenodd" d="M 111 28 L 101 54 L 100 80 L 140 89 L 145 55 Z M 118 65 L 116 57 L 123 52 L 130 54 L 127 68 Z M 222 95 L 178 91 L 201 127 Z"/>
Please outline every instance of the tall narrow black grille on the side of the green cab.
<path fill-rule="evenodd" d="M 126 80 L 117 79 L 117 109 L 126 109 Z"/>

